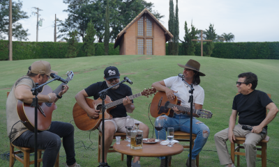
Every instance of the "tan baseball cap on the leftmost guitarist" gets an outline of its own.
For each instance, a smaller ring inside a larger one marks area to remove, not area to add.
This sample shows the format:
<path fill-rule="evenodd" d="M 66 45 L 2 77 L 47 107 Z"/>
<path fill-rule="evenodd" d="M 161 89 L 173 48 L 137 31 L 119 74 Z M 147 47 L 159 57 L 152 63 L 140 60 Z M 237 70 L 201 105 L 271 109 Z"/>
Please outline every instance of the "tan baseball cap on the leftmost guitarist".
<path fill-rule="evenodd" d="M 46 74 L 50 76 L 51 73 L 58 74 L 58 72 L 53 71 L 50 67 L 50 63 L 47 61 L 35 61 L 31 65 L 31 72 L 33 74 Z"/>

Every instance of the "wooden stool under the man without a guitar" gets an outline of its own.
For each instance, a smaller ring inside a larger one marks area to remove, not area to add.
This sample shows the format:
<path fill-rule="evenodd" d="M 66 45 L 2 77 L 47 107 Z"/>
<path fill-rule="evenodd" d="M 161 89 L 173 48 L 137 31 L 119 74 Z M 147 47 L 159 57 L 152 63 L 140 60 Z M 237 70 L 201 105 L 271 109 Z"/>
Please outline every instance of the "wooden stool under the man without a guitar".
<path fill-rule="evenodd" d="M 232 163 L 234 163 L 234 155 L 237 155 L 237 166 L 239 166 L 239 155 L 245 156 L 245 152 L 240 152 L 240 149 L 244 149 L 244 146 L 241 145 L 245 143 L 246 138 L 240 138 L 236 137 L 236 140 L 234 143 L 231 143 L 231 158 Z M 262 139 L 257 145 L 260 147 L 257 148 L 257 150 L 261 151 L 261 154 L 257 154 L 258 158 L 262 159 L 262 167 L 266 167 L 266 144 L 269 142 L 269 136 L 266 136 L 266 138 Z M 237 144 L 236 148 L 234 148 L 235 144 Z"/>

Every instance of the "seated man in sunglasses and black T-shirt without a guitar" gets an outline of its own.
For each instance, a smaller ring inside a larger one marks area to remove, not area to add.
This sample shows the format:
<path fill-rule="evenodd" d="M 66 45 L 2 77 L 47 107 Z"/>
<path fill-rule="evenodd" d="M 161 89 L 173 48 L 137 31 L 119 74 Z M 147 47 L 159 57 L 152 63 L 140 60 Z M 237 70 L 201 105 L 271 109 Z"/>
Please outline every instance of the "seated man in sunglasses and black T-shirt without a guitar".
<path fill-rule="evenodd" d="M 256 145 L 266 137 L 260 134 L 263 129 L 267 130 L 267 125 L 276 117 L 278 109 L 266 93 L 255 90 L 257 87 L 257 75 L 252 72 L 239 74 L 236 87 L 239 95 L 234 97 L 232 104 L 232 115 L 229 118 L 229 128 L 215 134 L 214 139 L 221 165 L 234 167 L 232 159 L 227 150 L 226 141 L 229 139 L 234 143 L 235 136 L 245 137 L 243 143 L 246 152 L 246 162 L 248 167 L 256 166 Z M 266 115 L 266 109 L 269 113 Z M 239 124 L 235 125 L 236 115 L 239 114 Z M 252 126 L 252 130 L 242 129 L 243 125 Z"/>

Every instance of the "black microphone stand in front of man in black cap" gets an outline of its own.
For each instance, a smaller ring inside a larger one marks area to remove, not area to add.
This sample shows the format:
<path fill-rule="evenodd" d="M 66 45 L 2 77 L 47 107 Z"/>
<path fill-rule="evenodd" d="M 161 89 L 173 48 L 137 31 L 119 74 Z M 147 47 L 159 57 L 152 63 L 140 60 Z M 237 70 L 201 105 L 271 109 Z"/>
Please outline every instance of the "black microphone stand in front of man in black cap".
<path fill-rule="evenodd" d="M 127 79 L 124 79 L 123 81 L 119 82 L 118 84 L 115 84 L 114 86 L 118 86 L 119 84 L 127 81 Z M 100 95 L 100 99 L 102 100 L 102 162 L 100 162 L 100 167 L 110 167 L 107 162 L 105 162 L 105 109 L 107 109 L 107 106 L 105 106 L 105 98 L 107 97 L 107 90 L 113 88 L 114 86 L 110 86 L 110 88 L 106 88 L 102 91 L 100 91 L 98 94 Z M 99 167 L 98 166 L 98 167 Z"/>

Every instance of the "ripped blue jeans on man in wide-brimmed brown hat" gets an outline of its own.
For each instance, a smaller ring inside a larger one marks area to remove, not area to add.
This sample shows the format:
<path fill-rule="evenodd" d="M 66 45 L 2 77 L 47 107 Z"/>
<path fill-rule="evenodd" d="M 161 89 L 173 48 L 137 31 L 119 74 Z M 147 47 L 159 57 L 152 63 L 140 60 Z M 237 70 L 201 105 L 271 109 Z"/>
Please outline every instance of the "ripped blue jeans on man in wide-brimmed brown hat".
<path fill-rule="evenodd" d="M 190 116 L 180 114 L 177 115 L 174 113 L 174 117 L 170 118 L 168 116 L 163 116 L 167 120 L 164 119 L 163 129 L 160 130 L 160 139 L 166 140 L 166 132 L 168 127 L 174 127 L 174 131 L 183 131 L 190 133 Z M 196 159 L 197 155 L 202 148 L 204 147 L 207 138 L 209 138 L 209 127 L 204 125 L 203 122 L 200 122 L 196 118 L 193 118 L 193 129 L 192 133 L 197 135 L 195 139 L 194 148 L 192 150 L 192 159 Z M 158 138 L 158 131 L 155 130 L 156 137 Z M 188 154 L 190 157 L 190 154 Z M 165 159 L 165 157 L 160 157 L 160 159 Z"/>

